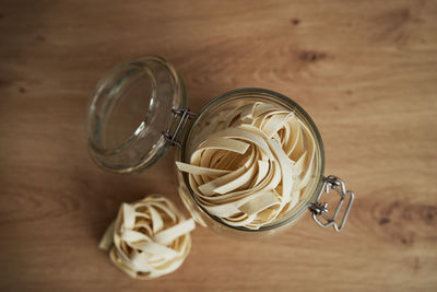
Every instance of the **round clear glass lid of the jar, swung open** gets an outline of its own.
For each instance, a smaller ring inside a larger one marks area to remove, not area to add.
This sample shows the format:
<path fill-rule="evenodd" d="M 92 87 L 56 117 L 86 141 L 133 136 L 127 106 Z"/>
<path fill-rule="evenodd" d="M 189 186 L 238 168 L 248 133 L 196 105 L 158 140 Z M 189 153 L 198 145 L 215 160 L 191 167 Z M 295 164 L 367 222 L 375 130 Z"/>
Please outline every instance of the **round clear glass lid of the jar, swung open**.
<path fill-rule="evenodd" d="M 88 150 L 114 173 L 138 173 L 170 147 L 163 136 L 174 108 L 186 105 L 184 82 L 161 57 L 123 62 L 98 82 L 86 114 Z"/>

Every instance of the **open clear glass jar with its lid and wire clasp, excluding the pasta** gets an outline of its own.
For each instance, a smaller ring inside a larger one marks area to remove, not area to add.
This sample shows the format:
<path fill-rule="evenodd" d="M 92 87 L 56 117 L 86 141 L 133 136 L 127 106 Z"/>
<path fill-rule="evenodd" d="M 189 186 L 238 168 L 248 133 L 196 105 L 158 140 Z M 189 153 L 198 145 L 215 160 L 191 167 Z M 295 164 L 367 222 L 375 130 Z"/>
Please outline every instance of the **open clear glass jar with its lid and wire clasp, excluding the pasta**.
<path fill-rule="evenodd" d="M 85 131 L 94 161 L 106 171 L 139 173 L 151 167 L 176 145 L 177 160 L 189 162 L 199 143 L 202 125 L 243 104 L 262 102 L 293 112 L 315 140 L 315 164 L 300 201 L 273 223 L 258 230 L 232 226 L 210 214 L 197 200 L 187 173 L 177 171 L 178 192 L 193 219 L 218 233 L 238 237 L 262 237 L 291 226 L 306 211 L 323 227 L 340 231 L 347 219 L 354 194 L 335 176 L 323 176 L 324 152 L 320 133 L 309 115 L 288 97 L 264 89 L 239 89 L 208 103 L 199 114 L 190 112 L 181 78 L 160 57 L 145 57 L 115 67 L 97 84 L 88 105 Z M 321 197 L 329 190 L 338 195 L 328 210 Z"/>

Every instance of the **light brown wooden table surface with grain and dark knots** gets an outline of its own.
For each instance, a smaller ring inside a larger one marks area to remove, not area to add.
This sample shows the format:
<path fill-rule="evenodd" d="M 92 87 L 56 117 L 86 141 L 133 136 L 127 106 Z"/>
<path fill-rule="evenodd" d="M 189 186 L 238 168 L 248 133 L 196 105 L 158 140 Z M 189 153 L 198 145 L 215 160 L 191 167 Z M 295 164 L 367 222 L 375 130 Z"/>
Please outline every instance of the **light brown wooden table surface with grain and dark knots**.
<path fill-rule="evenodd" d="M 436 291 L 436 1 L 3 1 L 2 291 Z M 114 65 L 167 58 L 199 110 L 268 87 L 322 135 L 356 201 L 341 233 L 309 214 L 262 241 L 198 227 L 176 272 L 132 280 L 97 248 L 123 201 L 176 194 L 174 154 L 120 176 L 86 151 L 92 91 Z M 152 290 L 151 290 L 152 289 Z"/>

